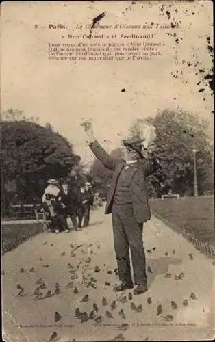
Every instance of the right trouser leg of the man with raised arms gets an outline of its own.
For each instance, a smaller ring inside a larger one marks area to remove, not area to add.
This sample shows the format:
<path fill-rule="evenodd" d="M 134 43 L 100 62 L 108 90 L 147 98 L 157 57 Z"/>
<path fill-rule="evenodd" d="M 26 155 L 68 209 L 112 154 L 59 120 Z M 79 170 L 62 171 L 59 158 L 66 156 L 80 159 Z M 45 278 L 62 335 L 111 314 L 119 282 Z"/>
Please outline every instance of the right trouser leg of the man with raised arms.
<path fill-rule="evenodd" d="M 147 285 L 146 257 L 142 244 L 143 224 L 137 222 L 133 205 L 121 205 L 118 215 L 131 248 L 134 283 L 135 285 Z"/>

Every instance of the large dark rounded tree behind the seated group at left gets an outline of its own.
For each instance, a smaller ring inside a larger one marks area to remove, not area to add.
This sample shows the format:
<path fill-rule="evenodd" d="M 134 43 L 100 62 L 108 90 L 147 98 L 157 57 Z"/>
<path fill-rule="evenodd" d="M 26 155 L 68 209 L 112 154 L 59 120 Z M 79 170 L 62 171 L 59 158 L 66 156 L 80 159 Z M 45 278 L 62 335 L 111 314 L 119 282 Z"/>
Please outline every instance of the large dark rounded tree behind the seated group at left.
<path fill-rule="evenodd" d="M 51 127 L 16 118 L 1 122 L 1 150 L 3 189 L 15 180 L 22 200 L 40 198 L 47 179 L 66 177 L 80 161 L 72 144 Z"/>

